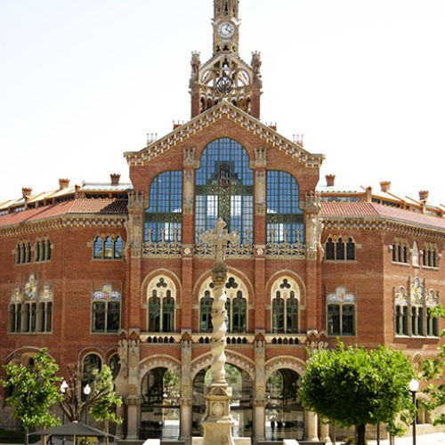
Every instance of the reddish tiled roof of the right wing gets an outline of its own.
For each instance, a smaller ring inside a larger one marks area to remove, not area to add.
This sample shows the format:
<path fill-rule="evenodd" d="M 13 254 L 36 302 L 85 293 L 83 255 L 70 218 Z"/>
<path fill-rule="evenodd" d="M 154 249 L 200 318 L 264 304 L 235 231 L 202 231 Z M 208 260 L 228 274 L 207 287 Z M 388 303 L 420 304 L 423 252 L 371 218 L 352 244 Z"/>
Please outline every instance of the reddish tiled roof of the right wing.
<path fill-rule="evenodd" d="M 369 218 L 380 220 L 400 221 L 401 223 L 416 224 L 423 227 L 445 230 L 445 218 L 421 214 L 411 210 L 403 210 L 392 206 L 370 202 L 322 202 L 321 216 L 345 218 Z"/>

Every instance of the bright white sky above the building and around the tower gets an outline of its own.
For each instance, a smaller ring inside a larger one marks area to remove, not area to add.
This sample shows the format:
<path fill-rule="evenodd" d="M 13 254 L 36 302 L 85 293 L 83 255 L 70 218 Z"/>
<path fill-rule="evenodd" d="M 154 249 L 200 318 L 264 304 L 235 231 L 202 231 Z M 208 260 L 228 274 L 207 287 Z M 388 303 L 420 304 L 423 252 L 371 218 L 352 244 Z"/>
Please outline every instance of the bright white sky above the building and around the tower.
<path fill-rule="evenodd" d="M 342 185 L 445 204 L 445 0 L 240 0 L 263 59 L 262 121 Z M 0 202 L 109 182 L 147 133 L 190 118 L 190 53 L 213 0 L 0 0 Z"/>

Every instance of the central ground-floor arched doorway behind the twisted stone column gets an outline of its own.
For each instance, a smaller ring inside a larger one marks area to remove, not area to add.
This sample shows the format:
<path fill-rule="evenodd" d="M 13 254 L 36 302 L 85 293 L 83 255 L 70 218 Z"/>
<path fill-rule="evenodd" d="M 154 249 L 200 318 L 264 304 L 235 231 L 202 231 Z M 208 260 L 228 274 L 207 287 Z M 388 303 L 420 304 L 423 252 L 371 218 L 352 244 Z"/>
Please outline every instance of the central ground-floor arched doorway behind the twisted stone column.
<path fill-rule="evenodd" d="M 253 435 L 253 412 L 252 394 L 253 382 L 246 371 L 225 364 L 226 381 L 232 388 L 231 417 L 235 420 L 233 426 L 234 437 L 252 437 Z M 203 430 L 201 420 L 206 414 L 205 395 L 212 381 L 212 370 L 210 367 L 201 369 L 193 379 L 193 436 L 202 436 Z"/>

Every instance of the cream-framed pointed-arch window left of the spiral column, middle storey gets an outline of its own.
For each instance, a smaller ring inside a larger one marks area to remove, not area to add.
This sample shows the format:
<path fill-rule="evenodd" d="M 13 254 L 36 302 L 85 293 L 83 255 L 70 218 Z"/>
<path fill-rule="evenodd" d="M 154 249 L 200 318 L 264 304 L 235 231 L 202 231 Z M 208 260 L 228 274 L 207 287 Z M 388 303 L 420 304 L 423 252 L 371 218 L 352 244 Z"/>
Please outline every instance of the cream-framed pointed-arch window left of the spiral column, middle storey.
<path fill-rule="evenodd" d="M 149 332 L 174 332 L 176 286 L 173 279 L 158 276 L 147 288 Z"/>

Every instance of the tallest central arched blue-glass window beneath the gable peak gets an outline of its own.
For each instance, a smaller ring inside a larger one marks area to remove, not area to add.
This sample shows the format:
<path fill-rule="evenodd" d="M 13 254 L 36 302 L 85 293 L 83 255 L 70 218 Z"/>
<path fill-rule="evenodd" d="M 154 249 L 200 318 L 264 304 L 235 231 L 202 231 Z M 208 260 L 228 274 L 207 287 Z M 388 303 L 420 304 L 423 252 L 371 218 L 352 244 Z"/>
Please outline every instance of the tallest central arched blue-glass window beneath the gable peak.
<path fill-rule="evenodd" d="M 254 173 L 247 151 L 230 138 L 209 143 L 202 152 L 196 172 L 195 228 L 214 229 L 222 217 L 229 231 L 239 231 L 245 242 L 246 231 L 254 226 Z"/>

